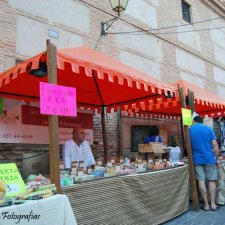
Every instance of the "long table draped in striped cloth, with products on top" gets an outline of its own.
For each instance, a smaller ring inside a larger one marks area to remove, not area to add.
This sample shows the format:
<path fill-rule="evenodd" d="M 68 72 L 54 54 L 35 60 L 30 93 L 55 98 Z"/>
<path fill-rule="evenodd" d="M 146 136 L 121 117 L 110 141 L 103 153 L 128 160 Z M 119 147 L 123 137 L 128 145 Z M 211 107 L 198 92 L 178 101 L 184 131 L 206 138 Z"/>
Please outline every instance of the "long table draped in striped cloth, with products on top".
<path fill-rule="evenodd" d="M 79 225 L 160 224 L 188 210 L 189 173 L 182 162 L 112 157 L 103 166 L 73 162 L 61 170 L 66 194 Z"/>

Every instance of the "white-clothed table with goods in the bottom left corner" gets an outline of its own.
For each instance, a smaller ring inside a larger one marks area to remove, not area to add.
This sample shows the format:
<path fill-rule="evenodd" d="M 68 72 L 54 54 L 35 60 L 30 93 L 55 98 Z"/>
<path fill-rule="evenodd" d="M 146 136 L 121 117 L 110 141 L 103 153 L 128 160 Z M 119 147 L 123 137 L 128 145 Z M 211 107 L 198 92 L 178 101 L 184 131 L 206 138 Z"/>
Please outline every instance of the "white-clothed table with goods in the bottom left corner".
<path fill-rule="evenodd" d="M 56 194 L 55 184 L 41 175 L 30 175 L 26 191 L 7 196 L 7 185 L 0 180 L 0 225 L 76 225 L 66 195 Z"/>

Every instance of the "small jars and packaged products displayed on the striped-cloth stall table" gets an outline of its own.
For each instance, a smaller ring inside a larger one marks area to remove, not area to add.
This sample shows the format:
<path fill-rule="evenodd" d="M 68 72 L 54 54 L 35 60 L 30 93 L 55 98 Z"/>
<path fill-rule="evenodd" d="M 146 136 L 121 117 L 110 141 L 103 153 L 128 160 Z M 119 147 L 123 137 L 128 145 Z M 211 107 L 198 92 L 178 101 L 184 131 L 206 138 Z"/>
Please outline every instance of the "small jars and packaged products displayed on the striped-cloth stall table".
<path fill-rule="evenodd" d="M 98 162 L 98 161 L 97 161 Z M 101 164 L 101 163 L 99 163 Z M 172 166 L 172 162 L 164 159 L 154 160 L 148 159 L 148 161 L 142 158 L 136 158 L 134 162 L 131 162 L 129 158 L 122 159 L 112 157 L 108 160 L 105 166 L 96 164 L 94 169 L 86 169 L 82 166 L 82 163 L 72 162 L 71 171 L 61 170 L 60 184 L 61 186 L 69 186 L 74 183 L 82 183 L 86 181 L 92 181 L 96 179 L 104 179 L 114 176 L 129 175 L 135 173 L 149 172 L 151 170 L 159 170 Z M 81 166 L 81 167 L 80 167 Z"/>

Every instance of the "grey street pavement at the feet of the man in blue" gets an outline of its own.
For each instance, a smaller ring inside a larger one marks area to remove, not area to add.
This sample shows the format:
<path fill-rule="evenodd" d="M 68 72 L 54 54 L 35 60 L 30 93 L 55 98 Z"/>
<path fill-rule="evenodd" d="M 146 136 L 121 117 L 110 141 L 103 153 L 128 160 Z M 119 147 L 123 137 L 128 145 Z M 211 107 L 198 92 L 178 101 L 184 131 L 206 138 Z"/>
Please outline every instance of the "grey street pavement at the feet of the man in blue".
<path fill-rule="evenodd" d="M 163 225 L 225 225 L 225 206 L 216 211 L 193 211 L 191 208 L 192 205 L 190 210 Z"/>

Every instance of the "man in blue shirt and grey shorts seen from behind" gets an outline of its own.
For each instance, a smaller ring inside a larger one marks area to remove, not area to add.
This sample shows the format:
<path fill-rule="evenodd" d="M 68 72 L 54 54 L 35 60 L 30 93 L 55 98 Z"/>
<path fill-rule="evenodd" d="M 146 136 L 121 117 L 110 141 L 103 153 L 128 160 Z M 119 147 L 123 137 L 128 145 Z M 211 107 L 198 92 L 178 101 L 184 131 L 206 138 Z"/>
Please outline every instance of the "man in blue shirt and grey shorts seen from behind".
<path fill-rule="evenodd" d="M 216 136 L 212 128 L 203 124 L 203 118 L 196 115 L 193 118 L 193 126 L 190 128 L 191 147 L 195 176 L 198 181 L 200 193 L 204 201 L 204 210 L 217 210 L 216 180 L 219 148 Z M 210 206 L 207 198 L 205 181 L 208 181 Z"/>

